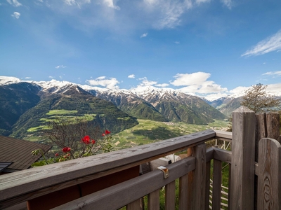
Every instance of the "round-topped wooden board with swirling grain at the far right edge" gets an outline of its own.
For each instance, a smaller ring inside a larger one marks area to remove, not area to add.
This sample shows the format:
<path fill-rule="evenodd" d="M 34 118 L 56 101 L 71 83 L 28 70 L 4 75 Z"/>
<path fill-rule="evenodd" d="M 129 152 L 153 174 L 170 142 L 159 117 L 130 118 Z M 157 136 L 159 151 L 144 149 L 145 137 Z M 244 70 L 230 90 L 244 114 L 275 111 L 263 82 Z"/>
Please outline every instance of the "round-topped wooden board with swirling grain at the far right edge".
<path fill-rule="evenodd" d="M 275 139 L 259 141 L 258 209 L 281 209 L 281 145 Z"/>

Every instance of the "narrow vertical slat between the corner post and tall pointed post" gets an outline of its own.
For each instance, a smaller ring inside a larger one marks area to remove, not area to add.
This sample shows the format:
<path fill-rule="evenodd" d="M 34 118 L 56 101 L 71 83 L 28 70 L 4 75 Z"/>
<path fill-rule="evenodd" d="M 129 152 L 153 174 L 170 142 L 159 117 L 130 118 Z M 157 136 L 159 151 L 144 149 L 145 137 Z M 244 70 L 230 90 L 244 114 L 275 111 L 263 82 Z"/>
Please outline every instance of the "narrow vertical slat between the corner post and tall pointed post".
<path fill-rule="evenodd" d="M 221 161 L 214 159 L 212 209 L 221 209 Z"/>

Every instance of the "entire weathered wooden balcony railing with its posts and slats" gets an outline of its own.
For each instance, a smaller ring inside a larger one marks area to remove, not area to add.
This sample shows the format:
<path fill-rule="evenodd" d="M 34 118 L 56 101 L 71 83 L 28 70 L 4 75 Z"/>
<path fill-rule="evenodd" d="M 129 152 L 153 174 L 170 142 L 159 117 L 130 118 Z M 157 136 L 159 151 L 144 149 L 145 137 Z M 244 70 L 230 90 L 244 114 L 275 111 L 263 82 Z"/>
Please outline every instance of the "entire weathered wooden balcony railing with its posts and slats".
<path fill-rule="evenodd" d="M 140 198 L 148 195 L 148 209 L 159 209 L 159 190 L 165 186 L 165 209 L 175 209 L 176 202 L 178 209 L 221 209 L 221 168 L 222 162 L 228 162 L 228 209 L 281 209 L 281 146 L 275 140 L 277 138 L 261 139 L 259 163 L 255 162 L 255 137 L 256 115 L 240 107 L 233 112 L 233 133 L 205 130 L 153 144 L 0 176 L 0 209 L 126 172 L 145 162 L 187 148 L 192 151 L 188 158 L 165 166 L 169 171 L 168 177 L 156 169 L 102 190 L 94 190 L 88 195 L 83 194 L 83 189 L 79 187 L 80 195 L 77 199 L 52 208 L 142 209 Z M 232 151 L 207 148 L 205 142 L 211 139 L 232 141 Z M 115 176 L 110 179 L 115 179 Z M 175 197 L 176 179 L 179 179 L 178 200 Z M 210 179 L 213 180 L 211 204 Z M 96 184 L 88 187 L 94 189 Z M 52 200 L 41 200 L 42 208 L 44 202 L 51 203 Z"/>

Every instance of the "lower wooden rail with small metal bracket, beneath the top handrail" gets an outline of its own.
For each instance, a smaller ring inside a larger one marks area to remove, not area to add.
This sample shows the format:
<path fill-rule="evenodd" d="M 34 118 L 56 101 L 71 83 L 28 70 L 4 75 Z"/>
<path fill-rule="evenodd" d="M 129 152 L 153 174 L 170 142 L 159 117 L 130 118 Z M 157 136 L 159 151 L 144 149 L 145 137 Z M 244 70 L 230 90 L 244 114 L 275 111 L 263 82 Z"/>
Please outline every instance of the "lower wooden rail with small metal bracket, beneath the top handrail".
<path fill-rule="evenodd" d="M 54 209 L 119 209 L 194 170 L 195 158 L 184 158 L 171 165 L 167 165 L 166 168 L 169 169 L 169 177 L 167 179 L 164 179 L 162 171 L 155 170 L 73 200 Z"/>

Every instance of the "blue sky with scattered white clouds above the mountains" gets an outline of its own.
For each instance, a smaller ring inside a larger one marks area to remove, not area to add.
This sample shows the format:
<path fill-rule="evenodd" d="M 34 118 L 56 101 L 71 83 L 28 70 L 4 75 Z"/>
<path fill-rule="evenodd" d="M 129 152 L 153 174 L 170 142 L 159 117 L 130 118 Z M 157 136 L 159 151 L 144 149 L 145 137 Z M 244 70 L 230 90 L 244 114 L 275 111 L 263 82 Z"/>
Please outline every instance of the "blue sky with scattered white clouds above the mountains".
<path fill-rule="evenodd" d="M 0 75 L 281 94 L 280 0 L 0 0 Z"/>

